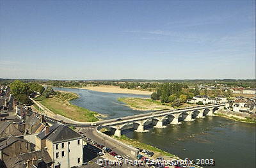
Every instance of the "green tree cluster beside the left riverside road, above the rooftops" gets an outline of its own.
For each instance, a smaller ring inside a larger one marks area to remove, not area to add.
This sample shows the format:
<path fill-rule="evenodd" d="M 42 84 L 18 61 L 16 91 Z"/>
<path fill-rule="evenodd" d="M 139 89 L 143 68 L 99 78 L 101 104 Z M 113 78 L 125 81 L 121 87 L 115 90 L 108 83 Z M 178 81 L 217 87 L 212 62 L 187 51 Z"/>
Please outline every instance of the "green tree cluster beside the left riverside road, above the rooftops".
<path fill-rule="evenodd" d="M 44 93 L 44 87 L 35 82 L 25 83 L 20 80 L 14 80 L 10 84 L 10 89 L 12 95 L 16 98 L 16 100 L 23 104 L 30 104 L 28 96 L 31 93 Z"/>

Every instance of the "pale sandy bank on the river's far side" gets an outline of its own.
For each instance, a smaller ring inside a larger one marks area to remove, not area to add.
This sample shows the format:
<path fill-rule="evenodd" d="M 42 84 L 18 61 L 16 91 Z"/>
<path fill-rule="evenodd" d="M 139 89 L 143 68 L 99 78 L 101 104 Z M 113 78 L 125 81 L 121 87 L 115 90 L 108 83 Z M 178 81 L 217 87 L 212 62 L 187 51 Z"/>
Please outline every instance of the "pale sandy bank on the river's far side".
<path fill-rule="evenodd" d="M 135 89 L 120 88 L 119 86 L 86 86 L 77 89 L 88 89 L 92 91 L 100 91 L 106 93 L 126 93 L 134 95 L 151 95 L 152 91 L 141 91 Z"/>

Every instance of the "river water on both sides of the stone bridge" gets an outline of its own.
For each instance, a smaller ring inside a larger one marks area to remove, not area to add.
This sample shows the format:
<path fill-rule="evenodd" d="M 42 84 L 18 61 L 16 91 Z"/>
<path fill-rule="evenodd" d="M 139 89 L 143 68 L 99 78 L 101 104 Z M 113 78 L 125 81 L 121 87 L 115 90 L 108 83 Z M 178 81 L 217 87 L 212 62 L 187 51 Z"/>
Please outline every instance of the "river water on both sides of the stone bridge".
<path fill-rule="evenodd" d="M 143 112 L 133 111 L 118 97 L 148 97 L 131 94 L 101 93 L 86 89 L 55 88 L 72 91 L 79 98 L 72 103 L 108 118 L 131 116 Z M 221 117 L 207 116 L 195 121 L 182 121 L 180 125 L 168 125 L 167 128 L 150 128 L 150 132 L 138 133 L 124 131 L 127 137 L 156 146 L 180 158 L 192 160 L 213 158 L 218 168 L 256 167 L 255 165 L 256 126 L 240 123 Z"/>

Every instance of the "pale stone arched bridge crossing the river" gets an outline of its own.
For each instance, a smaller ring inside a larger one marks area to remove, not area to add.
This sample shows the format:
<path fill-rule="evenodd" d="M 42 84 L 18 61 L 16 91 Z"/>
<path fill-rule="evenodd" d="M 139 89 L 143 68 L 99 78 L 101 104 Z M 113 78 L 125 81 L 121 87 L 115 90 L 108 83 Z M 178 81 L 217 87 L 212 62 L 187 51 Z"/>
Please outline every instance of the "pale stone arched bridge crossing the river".
<path fill-rule="evenodd" d="M 105 123 L 101 128 L 109 128 L 110 131 L 120 137 L 122 130 L 127 127 L 133 127 L 136 132 L 148 132 L 145 129 L 146 125 L 152 125 L 154 128 L 165 128 L 166 124 L 177 125 L 181 121 L 194 121 L 196 118 L 205 118 L 205 116 L 213 116 L 214 112 L 223 109 L 224 103 L 215 105 L 205 105 L 198 107 L 189 107 L 186 109 L 177 109 L 161 112 L 150 112 L 148 115 L 144 114 L 132 116 L 130 118 L 120 118 L 116 121 Z"/>

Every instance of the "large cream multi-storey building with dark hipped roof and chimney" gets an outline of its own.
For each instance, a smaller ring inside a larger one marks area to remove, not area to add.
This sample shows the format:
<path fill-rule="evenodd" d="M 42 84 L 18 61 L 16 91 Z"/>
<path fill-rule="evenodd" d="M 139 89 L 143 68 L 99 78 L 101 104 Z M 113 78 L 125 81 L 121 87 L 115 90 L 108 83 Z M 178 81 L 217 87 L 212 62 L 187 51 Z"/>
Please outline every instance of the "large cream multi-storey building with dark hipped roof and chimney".
<path fill-rule="evenodd" d="M 46 149 L 53 168 L 70 168 L 83 164 L 83 136 L 61 123 L 46 126 L 36 135 L 36 149 Z"/>

